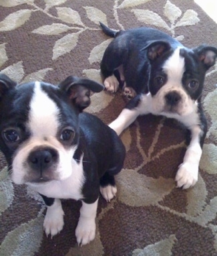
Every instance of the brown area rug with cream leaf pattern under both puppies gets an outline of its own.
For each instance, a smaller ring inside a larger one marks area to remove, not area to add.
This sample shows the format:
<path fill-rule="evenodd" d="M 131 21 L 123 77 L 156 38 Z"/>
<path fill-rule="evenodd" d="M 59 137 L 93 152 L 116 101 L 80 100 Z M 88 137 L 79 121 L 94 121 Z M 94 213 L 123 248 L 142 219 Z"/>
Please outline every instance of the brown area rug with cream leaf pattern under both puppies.
<path fill-rule="evenodd" d="M 188 47 L 217 46 L 217 25 L 194 3 L 180 0 L 0 0 L 0 68 L 17 82 L 57 84 L 74 74 L 101 81 L 99 63 L 114 29 L 151 26 Z M 1 256 L 9 255 L 217 255 L 217 65 L 206 75 L 208 117 L 198 183 L 176 188 L 186 131 L 172 119 L 140 117 L 123 135 L 124 169 L 112 202 L 99 198 L 97 233 L 79 248 L 75 227 L 80 202 L 64 200 L 65 226 L 43 232 L 45 205 L 25 186 L 12 184 L 1 155 Z M 93 94 L 87 111 L 113 121 L 126 100 L 121 92 Z"/>

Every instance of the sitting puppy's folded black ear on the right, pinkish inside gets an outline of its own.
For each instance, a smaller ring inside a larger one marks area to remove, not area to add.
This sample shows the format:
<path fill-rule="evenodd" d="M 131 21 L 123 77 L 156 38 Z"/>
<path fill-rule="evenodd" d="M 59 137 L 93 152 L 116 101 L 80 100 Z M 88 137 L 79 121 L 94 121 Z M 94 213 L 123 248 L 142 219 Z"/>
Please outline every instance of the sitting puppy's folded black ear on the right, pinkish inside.
<path fill-rule="evenodd" d="M 68 76 L 59 84 L 59 88 L 67 93 L 67 96 L 79 111 L 83 111 L 91 102 L 90 91 L 101 92 L 104 86 L 87 78 Z"/>

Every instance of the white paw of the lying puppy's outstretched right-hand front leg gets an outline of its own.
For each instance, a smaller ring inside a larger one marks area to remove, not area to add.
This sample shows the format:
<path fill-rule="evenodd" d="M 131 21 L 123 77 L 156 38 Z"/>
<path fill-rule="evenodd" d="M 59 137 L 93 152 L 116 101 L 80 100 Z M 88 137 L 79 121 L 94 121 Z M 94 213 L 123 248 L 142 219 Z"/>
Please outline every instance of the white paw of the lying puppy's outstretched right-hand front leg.
<path fill-rule="evenodd" d="M 191 163 L 180 164 L 176 174 L 176 182 L 178 188 L 190 188 L 198 181 L 198 165 Z"/>

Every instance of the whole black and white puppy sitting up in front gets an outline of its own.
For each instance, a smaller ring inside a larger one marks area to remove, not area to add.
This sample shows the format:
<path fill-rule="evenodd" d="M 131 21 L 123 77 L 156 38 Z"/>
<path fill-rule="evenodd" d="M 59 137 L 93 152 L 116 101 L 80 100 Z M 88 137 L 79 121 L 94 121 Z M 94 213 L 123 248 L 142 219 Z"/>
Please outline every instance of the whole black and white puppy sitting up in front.
<path fill-rule="evenodd" d="M 45 82 L 16 85 L 0 74 L 0 149 L 15 184 L 27 184 L 47 205 L 47 235 L 63 229 L 61 198 L 81 200 L 77 243 L 95 238 L 99 190 L 116 195 L 114 175 L 122 170 L 125 148 L 110 127 L 83 113 L 90 90 L 103 85 L 69 76 L 59 86 Z"/>

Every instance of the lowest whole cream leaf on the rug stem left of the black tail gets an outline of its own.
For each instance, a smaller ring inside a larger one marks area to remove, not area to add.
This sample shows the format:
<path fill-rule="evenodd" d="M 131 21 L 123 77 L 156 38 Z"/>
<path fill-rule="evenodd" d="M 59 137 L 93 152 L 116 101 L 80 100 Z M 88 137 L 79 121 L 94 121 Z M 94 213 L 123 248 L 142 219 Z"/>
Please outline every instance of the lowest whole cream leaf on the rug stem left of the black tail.
<path fill-rule="evenodd" d="M 63 38 L 57 40 L 55 42 L 55 46 L 53 47 L 53 58 L 52 60 L 56 60 L 59 56 L 67 54 L 75 48 L 78 40 L 78 33 L 68 34 L 63 36 Z"/>

